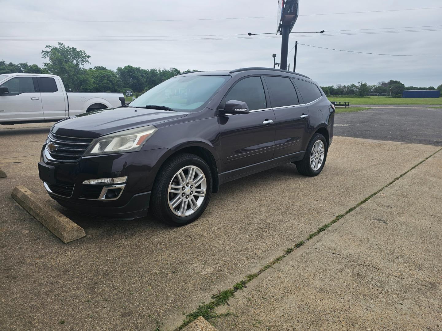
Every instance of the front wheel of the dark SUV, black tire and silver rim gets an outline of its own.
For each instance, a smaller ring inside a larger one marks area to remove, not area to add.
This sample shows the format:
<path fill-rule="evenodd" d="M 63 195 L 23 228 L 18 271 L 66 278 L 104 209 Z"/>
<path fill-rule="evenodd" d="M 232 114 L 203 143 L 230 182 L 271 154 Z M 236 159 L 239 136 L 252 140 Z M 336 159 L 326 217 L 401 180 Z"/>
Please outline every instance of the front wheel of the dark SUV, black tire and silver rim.
<path fill-rule="evenodd" d="M 184 178 L 180 177 L 181 173 Z M 189 176 L 192 178 L 189 179 Z M 150 210 L 163 223 L 183 226 L 202 215 L 211 195 L 212 174 L 209 165 L 197 155 L 179 153 L 168 159 L 158 171 L 152 188 Z M 171 204 L 174 203 L 178 205 L 172 208 Z"/>

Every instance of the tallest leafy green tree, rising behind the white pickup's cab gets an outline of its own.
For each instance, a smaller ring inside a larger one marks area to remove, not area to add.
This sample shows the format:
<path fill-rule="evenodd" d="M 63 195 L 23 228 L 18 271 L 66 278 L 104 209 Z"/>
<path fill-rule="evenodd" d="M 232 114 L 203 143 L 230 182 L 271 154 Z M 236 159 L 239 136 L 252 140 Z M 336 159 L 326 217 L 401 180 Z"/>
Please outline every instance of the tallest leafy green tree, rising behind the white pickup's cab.
<path fill-rule="evenodd" d="M 74 91 L 91 88 L 91 78 L 84 69 L 85 64 L 90 64 L 91 56 L 61 42 L 58 46 L 46 45 L 46 49 L 48 50 L 42 51 L 42 58 L 48 59 L 49 62 L 46 62 L 44 67 L 51 74 L 60 76 L 66 88 Z"/>

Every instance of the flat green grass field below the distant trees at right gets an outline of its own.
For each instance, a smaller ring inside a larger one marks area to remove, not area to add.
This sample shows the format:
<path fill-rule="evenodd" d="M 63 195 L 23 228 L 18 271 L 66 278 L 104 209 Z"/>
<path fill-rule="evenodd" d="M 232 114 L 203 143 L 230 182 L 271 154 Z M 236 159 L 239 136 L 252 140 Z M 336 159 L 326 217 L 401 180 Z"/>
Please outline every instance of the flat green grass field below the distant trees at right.
<path fill-rule="evenodd" d="M 330 101 L 350 102 L 350 105 L 442 105 L 442 98 L 389 98 L 389 97 L 364 97 L 364 98 L 328 98 Z"/>

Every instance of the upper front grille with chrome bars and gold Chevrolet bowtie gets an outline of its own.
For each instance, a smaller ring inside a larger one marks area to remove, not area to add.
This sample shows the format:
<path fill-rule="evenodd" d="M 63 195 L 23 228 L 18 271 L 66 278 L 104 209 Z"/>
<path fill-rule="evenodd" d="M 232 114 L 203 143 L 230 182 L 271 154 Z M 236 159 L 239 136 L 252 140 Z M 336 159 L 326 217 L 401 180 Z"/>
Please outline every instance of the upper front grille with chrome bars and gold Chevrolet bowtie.
<path fill-rule="evenodd" d="M 46 140 L 46 150 L 50 156 L 59 162 L 76 162 L 88 149 L 94 139 L 73 138 L 49 133 Z"/>

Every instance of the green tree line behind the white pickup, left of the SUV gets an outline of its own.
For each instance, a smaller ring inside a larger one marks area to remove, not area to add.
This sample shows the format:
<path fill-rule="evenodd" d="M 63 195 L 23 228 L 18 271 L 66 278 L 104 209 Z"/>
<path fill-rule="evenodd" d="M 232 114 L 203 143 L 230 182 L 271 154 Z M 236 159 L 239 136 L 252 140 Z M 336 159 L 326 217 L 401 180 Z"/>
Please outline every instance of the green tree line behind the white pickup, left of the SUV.
<path fill-rule="evenodd" d="M 181 73 L 177 68 L 142 69 L 126 65 L 110 70 L 103 66 L 84 68 L 90 64 L 91 56 L 83 50 L 69 47 L 59 42 L 57 46 L 47 45 L 42 50 L 42 58 L 47 59 L 43 67 L 37 64 L 0 61 L 0 75 L 10 73 L 52 74 L 60 76 L 66 90 L 76 92 L 124 92 L 131 90 L 141 94 L 146 90 Z M 186 70 L 196 71 L 196 70 Z"/>

